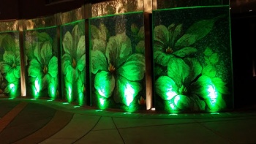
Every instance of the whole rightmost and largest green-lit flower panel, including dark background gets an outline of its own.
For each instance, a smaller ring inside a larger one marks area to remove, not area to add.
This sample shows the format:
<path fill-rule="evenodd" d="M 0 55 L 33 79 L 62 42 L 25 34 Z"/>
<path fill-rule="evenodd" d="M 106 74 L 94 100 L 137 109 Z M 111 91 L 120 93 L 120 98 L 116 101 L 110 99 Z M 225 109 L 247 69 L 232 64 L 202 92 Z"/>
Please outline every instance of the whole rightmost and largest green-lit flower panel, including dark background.
<path fill-rule="evenodd" d="M 228 7 L 157 10 L 153 14 L 157 110 L 233 107 Z"/>

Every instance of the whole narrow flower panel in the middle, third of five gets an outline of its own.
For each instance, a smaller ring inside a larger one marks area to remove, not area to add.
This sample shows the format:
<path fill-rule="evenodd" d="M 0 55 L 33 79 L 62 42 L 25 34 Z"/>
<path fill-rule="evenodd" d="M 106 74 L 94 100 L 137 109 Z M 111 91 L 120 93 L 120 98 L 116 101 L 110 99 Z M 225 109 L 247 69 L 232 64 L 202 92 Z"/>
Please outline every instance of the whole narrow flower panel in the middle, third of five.
<path fill-rule="evenodd" d="M 86 39 L 84 20 L 61 26 L 62 95 L 67 102 L 86 102 Z"/>

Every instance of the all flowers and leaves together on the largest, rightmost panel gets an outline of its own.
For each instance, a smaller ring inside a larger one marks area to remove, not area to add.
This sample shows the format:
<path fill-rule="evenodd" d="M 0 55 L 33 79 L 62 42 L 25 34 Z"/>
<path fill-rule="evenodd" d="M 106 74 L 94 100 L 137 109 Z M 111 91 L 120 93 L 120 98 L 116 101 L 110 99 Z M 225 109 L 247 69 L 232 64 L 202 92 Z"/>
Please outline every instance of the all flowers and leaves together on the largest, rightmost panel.
<path fill-rule="evenodd" d="M 217 75 L 219 55 L 205 47 L 205 59 L 202 61 L 198 55 L 201 49 L 195 45 L 223 17 L 197 20 L 187 30 L 183 23 L 154 27 L 155 88 L 164 110 L 211 111 L 226 108 L 223 96 L 229 91 L 227 83 Z"/>

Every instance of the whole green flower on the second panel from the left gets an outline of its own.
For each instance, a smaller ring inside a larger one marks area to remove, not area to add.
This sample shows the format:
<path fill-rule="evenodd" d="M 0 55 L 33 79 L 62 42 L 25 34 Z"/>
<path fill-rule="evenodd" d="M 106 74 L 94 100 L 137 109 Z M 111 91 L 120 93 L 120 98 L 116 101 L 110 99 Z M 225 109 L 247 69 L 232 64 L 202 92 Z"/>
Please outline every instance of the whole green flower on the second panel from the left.
<path fill-rule="evenodd" d="M 55 98 L 58 80 L 58 58 L 53 56 L 52 45 L 49 41 L 37 42 L 34 48 L 34 58 L 29 64 L 29 76 L 31 77 L 34 96 L 37 98 L 39 92 L 48 88 L 49 96 Z"/>

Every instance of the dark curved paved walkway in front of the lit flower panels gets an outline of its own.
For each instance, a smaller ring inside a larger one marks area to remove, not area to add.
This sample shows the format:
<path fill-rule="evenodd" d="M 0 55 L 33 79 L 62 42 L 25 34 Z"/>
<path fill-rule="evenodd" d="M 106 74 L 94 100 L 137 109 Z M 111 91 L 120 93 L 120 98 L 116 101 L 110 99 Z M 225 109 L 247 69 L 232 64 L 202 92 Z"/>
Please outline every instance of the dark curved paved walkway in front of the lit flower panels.
<path fill-rule="evenodd" d="M 256 110 L 124 113 L 0 98 L 0 143 L 256 143 Z"/>

